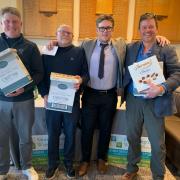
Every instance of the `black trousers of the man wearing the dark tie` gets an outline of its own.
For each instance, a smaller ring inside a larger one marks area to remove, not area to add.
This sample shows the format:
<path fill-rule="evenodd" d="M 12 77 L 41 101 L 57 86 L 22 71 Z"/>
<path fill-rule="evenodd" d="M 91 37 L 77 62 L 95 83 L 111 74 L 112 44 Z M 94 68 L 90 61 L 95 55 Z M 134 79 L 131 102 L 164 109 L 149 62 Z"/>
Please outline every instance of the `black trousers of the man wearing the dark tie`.
<path fill-rule="evenodd" d="M 93 133 L 99 128 L 97 159 L 107 160 L 113 118 L 116 112 L 117 93 L 87 89 L 82 97 L 82 161 L 91 158 Z"/>

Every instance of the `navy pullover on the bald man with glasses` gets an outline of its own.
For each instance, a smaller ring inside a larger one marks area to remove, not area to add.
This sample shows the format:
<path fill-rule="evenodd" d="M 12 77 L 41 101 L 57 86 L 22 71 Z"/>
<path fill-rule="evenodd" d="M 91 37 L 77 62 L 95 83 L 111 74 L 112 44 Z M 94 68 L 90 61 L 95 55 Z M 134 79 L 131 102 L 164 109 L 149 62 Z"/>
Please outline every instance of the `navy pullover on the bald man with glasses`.
<path fill-rule="evenodd" d="M 44 79 L 39 85 L 39 92 L 42 97 L 48 95 L 50 88 L 51 72 L 68 75 L 79 75 L 86 85 L 89 80 L 88 66 L 84 50 L 80 47 L 70 45 L 58 47 L 55 56 L 43 55 Z M 79 91 L 76 96 L 79 95 Z"/>

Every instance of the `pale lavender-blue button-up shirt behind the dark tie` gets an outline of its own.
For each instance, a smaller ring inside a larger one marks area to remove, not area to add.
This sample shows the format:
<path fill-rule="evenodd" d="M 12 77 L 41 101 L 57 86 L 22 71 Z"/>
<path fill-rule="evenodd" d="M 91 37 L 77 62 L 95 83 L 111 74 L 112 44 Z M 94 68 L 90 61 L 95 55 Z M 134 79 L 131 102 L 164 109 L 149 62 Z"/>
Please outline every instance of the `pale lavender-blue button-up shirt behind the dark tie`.
<path fill-rule="evenodd" d="M 98 70 L 99 70 L 99 60 L 101 46 L 100 41 L 97 40 L 96 46 L 93 50 L 91 59 L 90 59 L 90 81 L 88 86 L 97 89 L 97 90 L 108 90 L 114 88 L 117 82 L 117 72 L 118 72 L 118 58 L 115 53 L 115 49 L 112 46 L 111 41 L 109 45 L 104 49 L 104 77 L 99 79 Z"/>

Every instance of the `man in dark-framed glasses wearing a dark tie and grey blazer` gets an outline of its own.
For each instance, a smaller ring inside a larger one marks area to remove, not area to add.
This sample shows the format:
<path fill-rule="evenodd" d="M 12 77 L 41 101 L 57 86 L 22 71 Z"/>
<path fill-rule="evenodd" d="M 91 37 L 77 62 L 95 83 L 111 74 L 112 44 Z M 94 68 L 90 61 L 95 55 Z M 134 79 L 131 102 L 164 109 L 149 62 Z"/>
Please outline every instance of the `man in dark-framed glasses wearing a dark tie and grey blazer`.
<path fill-rule="evenodd" d="M 107 170 L 107 152 L 117 104 L 116 90 L 122 87 L 126 53 L 126 44 L 123 39 L 111 39 L 113 30 L 114 19 L 109 15 L 100 16 L 96 20 L 97 39 L 85 40 L 82 43 L 88 62 L 90 81 L 87 88 L 84 89 L 82 97 L 80 176 L 86 174 L 89 167 L 93 133 L 96 126 L 99 129 L 97 169 L 100 173 L 105 173 Z M 103 46 L 105 48 L 102 50 Z M 104 69 L 103 75 L 100 76 L 102 53 L 104 54 Z"/>

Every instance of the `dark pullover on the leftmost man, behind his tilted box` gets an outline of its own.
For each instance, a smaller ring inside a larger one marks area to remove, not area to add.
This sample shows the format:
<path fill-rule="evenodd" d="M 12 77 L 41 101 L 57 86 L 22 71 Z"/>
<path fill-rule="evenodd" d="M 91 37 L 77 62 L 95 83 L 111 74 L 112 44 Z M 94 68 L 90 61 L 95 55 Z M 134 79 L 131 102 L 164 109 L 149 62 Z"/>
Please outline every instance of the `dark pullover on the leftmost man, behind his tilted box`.
<path fill-rule="evenodd" d="M 20 34 L 18 38 L 11 39 L 8 38 L 5 33 L 1 33 L 0 52 L 7 48 L 14 48 L 17 50 L 17 54 L 31 75 L 33 82 L 24 87 L 24 93 L 15 97 L 6 97 L 0 90 L 0 100 L 16 102 L 32 99 L 34 97 L 34 86 L 43 78 L 43 64 L 38 47 L 35 43 L 25 39 L 22 34 Z"/>

